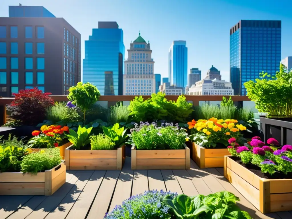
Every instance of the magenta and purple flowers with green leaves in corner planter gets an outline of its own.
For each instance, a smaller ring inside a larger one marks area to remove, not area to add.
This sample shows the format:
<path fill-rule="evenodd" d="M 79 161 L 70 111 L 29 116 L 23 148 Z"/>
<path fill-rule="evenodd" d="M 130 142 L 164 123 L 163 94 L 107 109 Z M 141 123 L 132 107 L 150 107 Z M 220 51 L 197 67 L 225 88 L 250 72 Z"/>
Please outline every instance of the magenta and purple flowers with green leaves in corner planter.
<path fill-rule="evenodd" d="M 239 146 L 231 142 L 228 151 L 234 157 L 239 157 L 244 164 L 254 164 L 261 168 L 263 173 L 270 175 L 281 172 L 292 172 L 292 146 L 279 147 L 279 142 L 269 138 L 267 144 L 260 137 L 253 137 L 248 146 Z"/>

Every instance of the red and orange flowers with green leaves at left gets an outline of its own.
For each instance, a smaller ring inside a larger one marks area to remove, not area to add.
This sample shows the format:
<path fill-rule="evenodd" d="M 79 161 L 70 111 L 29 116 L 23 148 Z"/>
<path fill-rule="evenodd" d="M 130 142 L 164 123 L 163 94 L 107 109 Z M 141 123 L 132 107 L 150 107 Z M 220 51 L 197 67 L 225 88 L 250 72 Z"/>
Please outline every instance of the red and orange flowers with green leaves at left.
<path fill-rule="evenodd" d="M 53 148 L 58 147 L 65 138 L 65 133 L 69 132 L 68 126 L 51 125 L 41 126 L 41 131 L 34 130 L 34 136 L 28 142 L 28 148 Z"/>

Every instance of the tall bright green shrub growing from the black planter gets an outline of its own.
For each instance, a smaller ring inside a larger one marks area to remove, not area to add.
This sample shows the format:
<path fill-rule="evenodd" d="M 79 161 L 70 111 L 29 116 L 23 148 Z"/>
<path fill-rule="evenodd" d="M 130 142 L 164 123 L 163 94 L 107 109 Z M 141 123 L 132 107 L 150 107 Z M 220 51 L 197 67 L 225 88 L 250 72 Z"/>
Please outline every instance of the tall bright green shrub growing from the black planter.
<path fill-rule="evenodd" d="M 268 116 L 292 116 L 292 71 L 288 72 L 283 64 L 276 77 L 262 72 L 260 79 L 245 82 L 244 86 L 259 112 Z"/>

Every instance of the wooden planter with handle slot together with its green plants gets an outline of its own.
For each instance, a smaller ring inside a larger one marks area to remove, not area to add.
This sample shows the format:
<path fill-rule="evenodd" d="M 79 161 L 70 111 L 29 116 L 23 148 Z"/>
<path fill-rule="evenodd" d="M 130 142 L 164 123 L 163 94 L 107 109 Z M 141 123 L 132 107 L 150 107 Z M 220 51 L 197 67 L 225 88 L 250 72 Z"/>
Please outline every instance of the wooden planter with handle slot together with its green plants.
<path fill-rule="evenodd" d="M 0 195 L 52 195 L 66 180 L 58 148 L 27 153 L 0 146 Z"/>

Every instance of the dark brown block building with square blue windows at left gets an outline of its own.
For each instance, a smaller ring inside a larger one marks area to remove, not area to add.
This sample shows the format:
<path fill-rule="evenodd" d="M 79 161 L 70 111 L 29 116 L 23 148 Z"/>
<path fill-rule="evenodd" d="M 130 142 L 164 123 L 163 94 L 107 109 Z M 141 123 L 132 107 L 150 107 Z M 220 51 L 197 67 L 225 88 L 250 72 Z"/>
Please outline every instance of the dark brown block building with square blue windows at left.
<path fill-rule="evenodd" d="M 66 95 L 81 81 L 80 42 L 79 32 L 44 7 L 9 6 L 9 17 L 0 18 L 0 96 L 33 87 Z"/>

